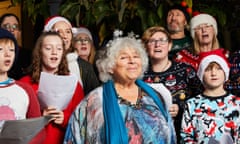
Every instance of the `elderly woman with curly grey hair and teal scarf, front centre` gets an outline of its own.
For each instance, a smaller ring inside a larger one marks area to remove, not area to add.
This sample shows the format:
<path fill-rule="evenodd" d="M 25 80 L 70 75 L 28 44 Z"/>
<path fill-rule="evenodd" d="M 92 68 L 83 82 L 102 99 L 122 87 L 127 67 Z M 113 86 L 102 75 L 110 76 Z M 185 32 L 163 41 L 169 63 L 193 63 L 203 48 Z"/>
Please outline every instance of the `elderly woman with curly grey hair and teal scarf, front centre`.
<path fill-rule="evenodd" d="M 72 114 L 64 143 L 175 144 L 160 93 L 140 80 L 147 66 L 147 54 L 135 37 L 110 41 L 97 60 L 103 84 Z"/>

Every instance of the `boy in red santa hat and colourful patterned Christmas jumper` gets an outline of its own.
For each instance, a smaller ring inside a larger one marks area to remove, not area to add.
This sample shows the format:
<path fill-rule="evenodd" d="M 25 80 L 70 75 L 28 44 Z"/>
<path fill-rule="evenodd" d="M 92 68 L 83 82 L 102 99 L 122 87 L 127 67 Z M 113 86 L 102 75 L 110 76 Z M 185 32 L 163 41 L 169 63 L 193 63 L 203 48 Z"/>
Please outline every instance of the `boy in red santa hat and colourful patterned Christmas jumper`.
<path fill-rule="evenodd" d="M 202 94 L 186 102 L 183 143 L 240 143 L 240 98 L 224 90 L 229 64 L 221 49 L 200 54 Z"/>

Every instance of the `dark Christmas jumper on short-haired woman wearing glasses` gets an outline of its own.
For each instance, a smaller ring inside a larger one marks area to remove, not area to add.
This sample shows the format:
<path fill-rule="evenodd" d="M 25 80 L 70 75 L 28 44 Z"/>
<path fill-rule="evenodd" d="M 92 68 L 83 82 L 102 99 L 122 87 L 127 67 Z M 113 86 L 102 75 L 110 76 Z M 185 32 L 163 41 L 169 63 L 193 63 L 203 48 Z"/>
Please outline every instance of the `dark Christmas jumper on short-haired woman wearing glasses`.
<path fill-rule="evenodd" d="M 153 72 L 151 66 L 144 73 L 143 80 L 147 83 L 162 83 L 172 94 L 172 103 L 178 104 L 179 112 L 174 118 L 178 140 L 185 100 L 201 93 L 202 84 L 195 70 L 185 64 L 172 61 L 172 65 L 164 72 Z"/>

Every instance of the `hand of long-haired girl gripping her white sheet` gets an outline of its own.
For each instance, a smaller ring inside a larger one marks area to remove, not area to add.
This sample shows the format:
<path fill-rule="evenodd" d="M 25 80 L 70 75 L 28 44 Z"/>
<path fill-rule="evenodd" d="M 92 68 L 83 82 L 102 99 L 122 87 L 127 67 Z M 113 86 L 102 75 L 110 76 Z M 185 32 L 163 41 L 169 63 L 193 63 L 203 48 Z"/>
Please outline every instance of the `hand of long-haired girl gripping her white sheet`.
<path fill-rule="evenodd" d="M 43 116 L 51 115 L 52 118 L 50 121 L 53 121 L 56 124 L 62 124 L 64 120 L 64 114 L 62 111 L 57 110 L 55 107 L 47 107 L 43 110 Z"/>

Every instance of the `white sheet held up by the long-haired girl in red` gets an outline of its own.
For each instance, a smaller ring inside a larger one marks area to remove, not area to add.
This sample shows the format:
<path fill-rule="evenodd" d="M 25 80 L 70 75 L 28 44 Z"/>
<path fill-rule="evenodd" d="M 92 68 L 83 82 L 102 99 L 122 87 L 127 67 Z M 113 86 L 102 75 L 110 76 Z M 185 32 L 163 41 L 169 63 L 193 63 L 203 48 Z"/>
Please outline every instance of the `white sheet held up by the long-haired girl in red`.
<path fill-rule="evenodd" d="M 38 99 L 41 109 L 54 106 L 63 110 L 71 100 L 78 80 L 75 75 L 53 75 L 42 72 L 39 81 Z"/>

